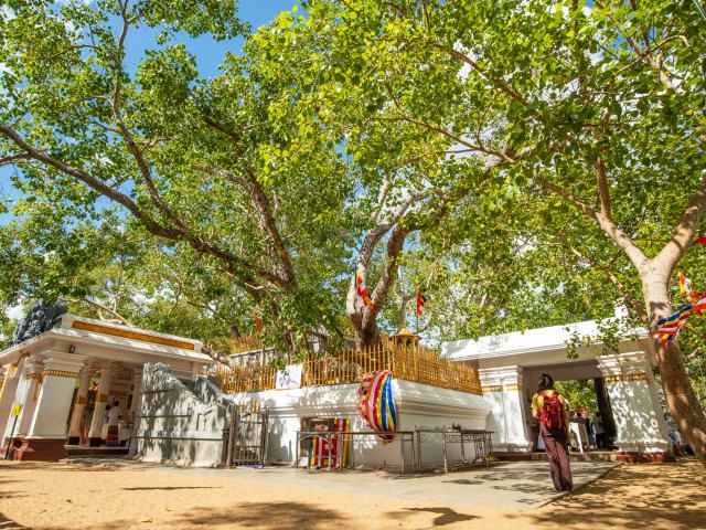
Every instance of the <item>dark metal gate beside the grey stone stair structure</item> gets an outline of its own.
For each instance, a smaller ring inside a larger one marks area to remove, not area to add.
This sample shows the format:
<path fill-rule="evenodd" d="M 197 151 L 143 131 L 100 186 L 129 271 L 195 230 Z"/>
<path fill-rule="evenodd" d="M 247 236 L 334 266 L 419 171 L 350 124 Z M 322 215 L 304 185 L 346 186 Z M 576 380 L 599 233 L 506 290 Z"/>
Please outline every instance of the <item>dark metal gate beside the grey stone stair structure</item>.
<path fill-rule="evenodd" d="M 226 467 L 265 465 L 269 409 L 261 410 L 257 404 L 235 404 L 231 409 L 231 418 Z"/>

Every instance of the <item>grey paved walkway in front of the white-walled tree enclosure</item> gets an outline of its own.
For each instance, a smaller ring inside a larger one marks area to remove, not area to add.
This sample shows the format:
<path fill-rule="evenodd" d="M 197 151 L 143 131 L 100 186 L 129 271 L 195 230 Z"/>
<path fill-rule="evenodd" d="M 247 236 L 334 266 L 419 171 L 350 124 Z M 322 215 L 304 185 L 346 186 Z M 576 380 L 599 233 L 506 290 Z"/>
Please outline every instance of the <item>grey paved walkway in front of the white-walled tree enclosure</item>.
<path fill-rule="evenodd" d="M 366 495 L 379 498 L 434 501 L 445 505 L 532 510 L 563 497 L 555 491 L 546 462 L 513 462 L 474 467 L 443 475 L 392 474 L 385 471 L 327 471 L 267 467 L 264 469 L 211 469 L 148 464 L 127 458 L 67 458 L 71 463 L 103 464 L 175 475 L 232 478 L 250 483 L 292 486 L 331 494 Z M 614 462 L 571 463 L 575 489 L 606 475 Z"/>

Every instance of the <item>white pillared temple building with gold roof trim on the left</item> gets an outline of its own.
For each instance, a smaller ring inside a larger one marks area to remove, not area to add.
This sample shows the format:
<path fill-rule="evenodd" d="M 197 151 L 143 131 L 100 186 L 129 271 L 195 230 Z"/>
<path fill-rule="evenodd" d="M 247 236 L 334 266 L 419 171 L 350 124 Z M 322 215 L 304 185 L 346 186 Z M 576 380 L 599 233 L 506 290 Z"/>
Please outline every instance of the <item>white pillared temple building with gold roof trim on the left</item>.
<path fill-rule="evenodd" d="M 145 363 L 165 363 L 193 380 L 213 362 L 201 348 L 193 339 L 63 315 L 58 327 L 0 352 L 0 446 L 12 432 L 15 459 L 58 459 L 67 443 L 99 445 L 107 405 L 117 402 L 126 421 L 139 409 Z"/>

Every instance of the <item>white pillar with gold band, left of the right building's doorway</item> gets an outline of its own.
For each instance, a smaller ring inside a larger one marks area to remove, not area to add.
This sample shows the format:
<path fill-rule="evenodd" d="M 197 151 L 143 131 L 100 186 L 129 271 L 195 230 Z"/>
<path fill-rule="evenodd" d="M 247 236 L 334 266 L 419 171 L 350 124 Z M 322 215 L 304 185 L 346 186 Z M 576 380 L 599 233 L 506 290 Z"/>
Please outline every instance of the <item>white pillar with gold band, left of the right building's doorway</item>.
<path fill-rule="evenodd" d="M 532 447 L 522 385 L 522 367 L 486 368 L 478 371 L 483 398 L 491 406 L 489 431 L 494 431 L 493 449 L 528 452 Z"/>

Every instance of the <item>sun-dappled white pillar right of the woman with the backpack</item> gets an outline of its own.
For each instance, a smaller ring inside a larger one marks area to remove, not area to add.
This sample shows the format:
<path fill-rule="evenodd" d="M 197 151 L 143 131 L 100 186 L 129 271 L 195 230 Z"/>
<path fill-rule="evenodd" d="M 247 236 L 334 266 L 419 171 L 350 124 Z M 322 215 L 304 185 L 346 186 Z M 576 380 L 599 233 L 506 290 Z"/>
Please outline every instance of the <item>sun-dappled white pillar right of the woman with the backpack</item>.
<path fill-rule="evenodd" d="M 618 449 L 629 454 L 668 452 L 668 431 L 646 352 L 600 356 L 598 368 L 616 420 Z"/>

